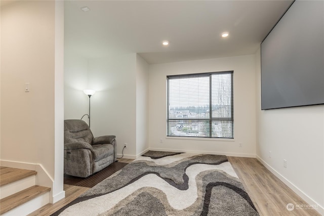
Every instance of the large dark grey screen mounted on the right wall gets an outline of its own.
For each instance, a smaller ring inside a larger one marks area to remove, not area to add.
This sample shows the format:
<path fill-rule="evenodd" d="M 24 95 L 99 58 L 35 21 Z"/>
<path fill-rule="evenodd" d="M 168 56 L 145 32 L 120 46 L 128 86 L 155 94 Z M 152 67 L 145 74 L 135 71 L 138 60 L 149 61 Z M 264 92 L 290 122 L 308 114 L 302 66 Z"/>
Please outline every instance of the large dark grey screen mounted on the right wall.
<path fill-rule="evenodd" d="M 261 43 L 261 109 L 324 104 L 324 1 L 295 1 Z"/>

